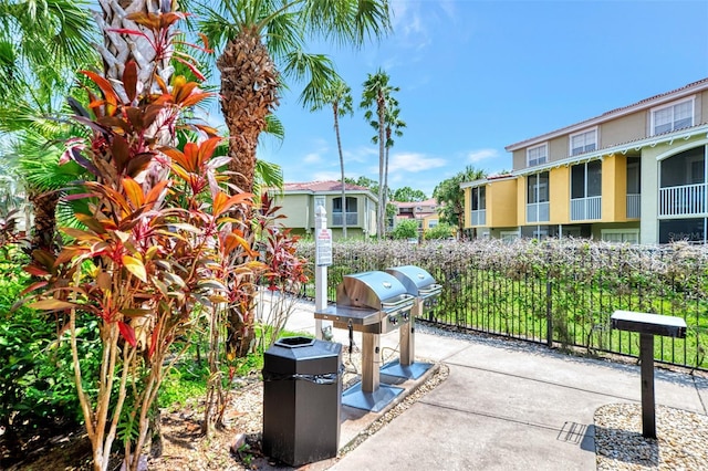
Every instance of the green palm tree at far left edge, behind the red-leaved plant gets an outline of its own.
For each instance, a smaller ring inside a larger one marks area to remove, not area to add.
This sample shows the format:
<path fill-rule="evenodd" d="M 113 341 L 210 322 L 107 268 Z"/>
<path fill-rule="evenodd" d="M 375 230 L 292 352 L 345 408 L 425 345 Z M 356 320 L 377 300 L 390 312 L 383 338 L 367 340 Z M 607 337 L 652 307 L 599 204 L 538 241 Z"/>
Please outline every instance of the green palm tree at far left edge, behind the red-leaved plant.
<path fill-rule="evenodd" d="M 45 145 L 62 127 L 46 118 L 61 114 L 74 70 L 96 60 L 88 4 L 74 0 L 0 3 L 0 134 L 11 143 L 3 159 L 24 177 L 34 208 L 33 249 L 53 249 L 55 190 L 62 181 L 61 176 L 52 178 L 44 171 L 56 169 L 56 163 L 46 158 L 51 153 Z M 24 164 L 32 166 L 31 171 Z M 51 184 L 44 187 L 43 182 Z"/>

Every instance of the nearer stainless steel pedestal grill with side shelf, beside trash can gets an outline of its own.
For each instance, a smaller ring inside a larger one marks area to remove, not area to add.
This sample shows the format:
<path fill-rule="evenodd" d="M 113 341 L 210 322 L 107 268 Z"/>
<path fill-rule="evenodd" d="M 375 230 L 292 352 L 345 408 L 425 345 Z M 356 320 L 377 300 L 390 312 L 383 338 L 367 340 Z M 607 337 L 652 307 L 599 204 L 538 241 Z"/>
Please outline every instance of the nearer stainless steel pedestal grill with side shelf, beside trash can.
<path fill-rule="evenodd" d="M 362 380 L 342 395 L 342 404 L 382 410 L 403 389 L 381 384 L 381 334 L 410 321 L 415 296 L 395 276 L 372 271 L 345 275 L 336 287 L 336 305 L 315 311 L 335 328 L 362 333 Z"/>

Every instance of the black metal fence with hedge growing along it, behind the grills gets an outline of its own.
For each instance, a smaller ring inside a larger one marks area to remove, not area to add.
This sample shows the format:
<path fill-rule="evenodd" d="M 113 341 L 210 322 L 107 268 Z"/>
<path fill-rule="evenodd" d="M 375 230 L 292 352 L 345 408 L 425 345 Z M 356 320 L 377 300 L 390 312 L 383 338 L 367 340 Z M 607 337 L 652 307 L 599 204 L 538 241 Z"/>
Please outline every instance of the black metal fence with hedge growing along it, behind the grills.
<path fill-rule="evenodd" d="M 302 243 L 313 260 L 314 245 Z M 333 247 L 327 297 L 342 276 L 414 264 L 440 283 L 425 320 L 447 326 L 590 352 L 638 356 L 638 334 L 611 329 L 617 310 L 686 320 L 685 339 L 659 337 L 658 362 L 708 369 L 708 249 L 549 240 L 345 242 Z M 314 283 L 314 281 L 312 281 Z M 305 287 L 313 295 L 314 285 Z"/>

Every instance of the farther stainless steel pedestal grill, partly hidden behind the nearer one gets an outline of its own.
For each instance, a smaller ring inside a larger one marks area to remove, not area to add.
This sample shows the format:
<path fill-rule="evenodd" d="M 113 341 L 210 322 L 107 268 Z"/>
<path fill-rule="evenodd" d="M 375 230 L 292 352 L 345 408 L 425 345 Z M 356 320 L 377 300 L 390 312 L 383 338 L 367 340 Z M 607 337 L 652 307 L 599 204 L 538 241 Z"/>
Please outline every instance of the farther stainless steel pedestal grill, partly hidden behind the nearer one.
<path fill-rule="evenodd" d="M 404 378 L 418 378 L 428 368 L 428 363 L 415 360 L 415 320 L 421 316 L 426 307 L 437 302 L 442 285 L 437 284 L 430 273 L 415 265 L 404 265 L 386 269 L 386 273 L 398 280 L 406 292 L 415 296 L 415 303 L 410 311 L 410 321 L 400 327 L 400 355 L 397 362 L 384 365 L 381 373 Z"/>

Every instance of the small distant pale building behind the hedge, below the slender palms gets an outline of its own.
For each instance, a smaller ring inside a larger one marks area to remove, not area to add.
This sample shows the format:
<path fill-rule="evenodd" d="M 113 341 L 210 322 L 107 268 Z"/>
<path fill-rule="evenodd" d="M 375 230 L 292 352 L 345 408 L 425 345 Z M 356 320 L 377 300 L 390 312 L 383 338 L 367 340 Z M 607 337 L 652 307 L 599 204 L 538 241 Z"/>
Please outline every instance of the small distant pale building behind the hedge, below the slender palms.
<path fill-rule="evenodd" d="M 315 209 L 323 206 L 333 239 L 342 237 L 343 221 L 346 221 L 347 238 L 376 236 L 378 199 L 368 188 L 357 185 L 346 184 L 345 191 L 344 205 L 341 181 L 284 184 L 282 193 L 273 191 L 273 197 L 287 218 L 283 224 L 293 233 L 313 233 Z"/>

